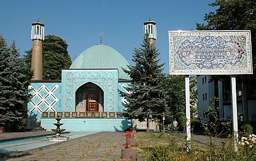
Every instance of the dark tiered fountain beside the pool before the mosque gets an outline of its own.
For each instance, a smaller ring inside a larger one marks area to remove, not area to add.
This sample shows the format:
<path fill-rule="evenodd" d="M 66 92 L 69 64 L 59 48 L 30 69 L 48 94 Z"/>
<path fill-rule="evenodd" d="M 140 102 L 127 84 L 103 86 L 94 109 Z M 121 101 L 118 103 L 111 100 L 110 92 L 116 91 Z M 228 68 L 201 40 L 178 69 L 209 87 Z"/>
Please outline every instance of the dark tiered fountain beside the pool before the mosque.
<path fill-rule="evenodd" d="M 69 140 L 69 137 L 61 137 L 60 136 L 61 132 L 64 132 L 64 130 L 66 130 L 66 129 L 60 129 L 60 126 L 63 125 L 63 124 L 60 123 L 60 120 L 61 120 L 61 118 L 60 118 L 60 116 L 58 116 L 56 118 L 57 123 L 54 124 L 54 125 L 56 125 L 57 128 L 56 129 L 51 129 L 53 132 L 56 133 L 56 137 L 47 137 L 47 141 L 66 141 L 66 140 Z"/>

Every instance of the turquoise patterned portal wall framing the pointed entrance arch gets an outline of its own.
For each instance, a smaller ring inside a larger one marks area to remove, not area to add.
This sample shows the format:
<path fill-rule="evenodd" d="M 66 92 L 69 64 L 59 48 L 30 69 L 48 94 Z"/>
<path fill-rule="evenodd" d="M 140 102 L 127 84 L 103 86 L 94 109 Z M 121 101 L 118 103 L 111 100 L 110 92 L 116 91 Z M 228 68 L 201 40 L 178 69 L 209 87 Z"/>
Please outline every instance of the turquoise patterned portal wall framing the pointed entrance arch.
<path fill-rule="evenodd" d="M 104 111 L 117 111 L 118 70 L 62 70 L 62 105 L 66 111 L 75 111 L 76 91 L 85 83 L 98 85 L 104 93 Z"/>

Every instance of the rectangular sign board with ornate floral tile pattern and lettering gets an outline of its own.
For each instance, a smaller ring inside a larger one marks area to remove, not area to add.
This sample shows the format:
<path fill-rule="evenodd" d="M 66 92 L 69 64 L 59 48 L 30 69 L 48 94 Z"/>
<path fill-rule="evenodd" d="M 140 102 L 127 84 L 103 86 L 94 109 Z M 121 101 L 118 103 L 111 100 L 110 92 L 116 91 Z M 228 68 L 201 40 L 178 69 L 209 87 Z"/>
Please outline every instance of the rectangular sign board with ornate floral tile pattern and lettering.
<path fill-rule="evenodd" d="M 250 31 L 169 31 L 169 74 L 252 74 Z"/>

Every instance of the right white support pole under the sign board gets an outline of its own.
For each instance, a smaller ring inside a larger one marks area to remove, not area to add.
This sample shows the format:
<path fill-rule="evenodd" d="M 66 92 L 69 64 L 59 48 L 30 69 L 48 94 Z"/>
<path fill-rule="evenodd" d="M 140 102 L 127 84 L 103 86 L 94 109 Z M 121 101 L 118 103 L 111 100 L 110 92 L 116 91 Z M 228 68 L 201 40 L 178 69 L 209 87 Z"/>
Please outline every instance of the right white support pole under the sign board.
<path fill-rule="evenodd" d="M 233 123 L 233 135 L 234 135 L 234 148 L 238 152 L 238 108 L 236 104 L 236 77 L 231 75 L 231 91 L 232 91 L 232 123 Z"/>

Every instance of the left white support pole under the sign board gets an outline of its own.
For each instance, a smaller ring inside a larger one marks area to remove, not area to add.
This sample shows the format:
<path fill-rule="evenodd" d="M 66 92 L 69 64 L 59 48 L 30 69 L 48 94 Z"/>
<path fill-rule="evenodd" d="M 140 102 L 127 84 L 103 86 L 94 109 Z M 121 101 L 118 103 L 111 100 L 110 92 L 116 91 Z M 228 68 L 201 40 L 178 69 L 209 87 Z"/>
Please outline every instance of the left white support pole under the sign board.
<path fill-rule="evenodd" d="M 191 133 L 190 133 L 190 91 L 189 91 L 189 75 L 185 77 L 185 98 L 186 98 L 186 137 L 187 137 L 187 152 L 191 148 Z"/>

